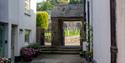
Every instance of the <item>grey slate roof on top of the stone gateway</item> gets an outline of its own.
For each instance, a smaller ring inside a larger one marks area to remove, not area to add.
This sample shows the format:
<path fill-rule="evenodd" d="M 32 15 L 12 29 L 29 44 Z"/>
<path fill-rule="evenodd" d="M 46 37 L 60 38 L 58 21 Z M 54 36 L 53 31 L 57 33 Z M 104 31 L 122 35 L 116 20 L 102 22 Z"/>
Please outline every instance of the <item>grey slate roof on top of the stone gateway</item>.
<path fill-rule="evenodd" d="M 83 17 L 83 4 L 58 5 L 52 12 L 52 17 Z"/>

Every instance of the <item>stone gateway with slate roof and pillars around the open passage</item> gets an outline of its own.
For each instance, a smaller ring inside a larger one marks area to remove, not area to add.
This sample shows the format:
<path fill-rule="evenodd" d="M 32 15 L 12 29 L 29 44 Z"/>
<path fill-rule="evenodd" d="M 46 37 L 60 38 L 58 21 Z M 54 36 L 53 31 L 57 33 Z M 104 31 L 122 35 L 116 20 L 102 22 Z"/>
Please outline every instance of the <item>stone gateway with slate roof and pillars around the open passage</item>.
<path fill-rule="evenodd" d="M 82 27 L 80 30 L 80 45 L 85 41 L 84 30 L 84 8 L 83 4 L 58 5 L 53 9 L 51 14 L 52 20 L 52 46 L 64 46 L 64 21 L 81 21 Z"/>

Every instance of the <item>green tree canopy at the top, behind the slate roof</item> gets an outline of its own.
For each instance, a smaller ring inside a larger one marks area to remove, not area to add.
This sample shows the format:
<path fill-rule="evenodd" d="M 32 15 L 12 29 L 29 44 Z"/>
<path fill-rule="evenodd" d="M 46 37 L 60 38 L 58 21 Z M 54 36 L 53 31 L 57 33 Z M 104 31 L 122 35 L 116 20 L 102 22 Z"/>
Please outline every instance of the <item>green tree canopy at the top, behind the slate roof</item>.
<path fill-rule="evenodd" d="M 47 0 L 44 2 L 37 3 L 37 11 L 48 11 L 52 10 L 57 4 L 78 4 L 82 3 L 83 0 Z"/>

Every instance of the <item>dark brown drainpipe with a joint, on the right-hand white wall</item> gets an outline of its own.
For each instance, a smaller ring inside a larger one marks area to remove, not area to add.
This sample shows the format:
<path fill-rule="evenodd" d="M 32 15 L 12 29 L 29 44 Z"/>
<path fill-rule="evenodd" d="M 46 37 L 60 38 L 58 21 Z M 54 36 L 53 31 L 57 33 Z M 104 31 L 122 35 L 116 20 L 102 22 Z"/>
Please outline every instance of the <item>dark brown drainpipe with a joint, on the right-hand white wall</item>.
<path fill-rule="evenodd" d="M 117 63 L 116 40 L 116 0 L 110 0 L 110 24 L 111 24 L 111 63 Z"/>

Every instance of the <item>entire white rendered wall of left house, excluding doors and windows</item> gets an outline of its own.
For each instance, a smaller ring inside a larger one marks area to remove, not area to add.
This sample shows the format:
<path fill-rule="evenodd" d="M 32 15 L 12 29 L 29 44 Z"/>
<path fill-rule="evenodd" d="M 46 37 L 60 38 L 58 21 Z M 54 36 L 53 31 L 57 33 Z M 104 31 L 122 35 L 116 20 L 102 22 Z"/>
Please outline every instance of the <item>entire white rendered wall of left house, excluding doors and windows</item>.
<path fill-rule="evenodd" d="M 17 36 L 15 39 L 15 56 L 20 55 L 20 49 L 25 45 L 25 29 L 31 30 L 30 43 L 36 42 L 36 0 L 30 2 L 30 16 L 24 14 L 25 0 L 0 0 L 0 22 L 6 24 L 5 56 L 11 58 L 11 26 L 17 25 Z M 23 31 L 20 32 L 20 29 Z"/>

